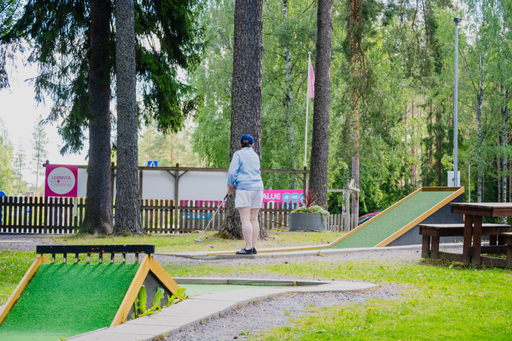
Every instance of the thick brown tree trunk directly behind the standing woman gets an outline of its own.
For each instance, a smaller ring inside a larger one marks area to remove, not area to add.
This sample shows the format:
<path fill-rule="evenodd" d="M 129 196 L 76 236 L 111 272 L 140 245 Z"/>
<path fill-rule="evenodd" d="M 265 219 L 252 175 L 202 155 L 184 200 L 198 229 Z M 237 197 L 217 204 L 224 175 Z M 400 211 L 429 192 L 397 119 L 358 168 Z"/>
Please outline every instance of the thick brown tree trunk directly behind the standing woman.
<path fill-rule="evenodd" d="M 231 93 L 231 138 L 229 160 L 240 149 L 240 137 L 250 134 L 254 138 L 252 149 L 261 160 L 261 98 L 263 60 L 263 3 L 261 0 L 236 0 L 234 5 L 233 83 Z M 219 236 L 243 238 L 238 209 L 234 207 L 236 192 L 226 200 L 226 218 Z M 260 221 L 260 238 L 267 231 Z"/>

